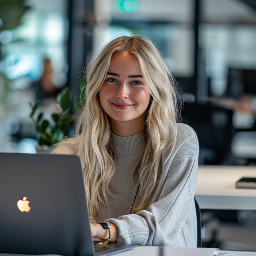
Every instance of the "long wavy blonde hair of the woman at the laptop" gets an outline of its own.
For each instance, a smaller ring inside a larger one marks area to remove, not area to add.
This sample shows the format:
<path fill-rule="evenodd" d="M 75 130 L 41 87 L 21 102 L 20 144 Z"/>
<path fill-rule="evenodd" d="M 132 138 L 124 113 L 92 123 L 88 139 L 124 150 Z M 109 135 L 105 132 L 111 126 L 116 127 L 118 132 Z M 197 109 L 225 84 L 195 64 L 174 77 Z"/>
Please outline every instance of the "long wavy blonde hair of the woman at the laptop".
<path fill-rule="evenodd" d="M 150 205 L 161 176 L 159 165 L 162 154 L 168 150 L 170 155 L 177 139 L 174 80 L 158 50 L 152 42 L 140 36 L 114 39 L 87 67 L 86 101 L 76 126 L 76 135 L 80 136 L 81 141 L 78 155 L 82 160 L 89 216 L 92 220 L 96 216 L 103 216 L 103 205 L 109 208 L 108 200 L 113 197 L 110 185 L 115 188 L 113 177 L 117 155 L 110 144 L 111 127 L 101 107 L 98 92 L 110 67 L 111 57 L 116 52 L 128 52 L 137 57 L 151 94 L 144 124 L 146 146 L 134 174 L 140 185 L 140 195 L 132 213 L 146 210 Z"/>

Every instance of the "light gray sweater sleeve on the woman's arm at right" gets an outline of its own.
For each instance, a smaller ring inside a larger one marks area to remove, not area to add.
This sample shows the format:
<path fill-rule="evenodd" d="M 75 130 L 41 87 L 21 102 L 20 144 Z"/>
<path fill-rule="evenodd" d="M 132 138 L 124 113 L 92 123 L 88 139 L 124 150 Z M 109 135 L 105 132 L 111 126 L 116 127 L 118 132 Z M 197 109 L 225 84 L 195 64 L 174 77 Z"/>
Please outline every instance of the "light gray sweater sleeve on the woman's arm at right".
<path fill-rule="evenodd" d="M 188 133 L 166 163 L 167 175 L 157 202 L 137 214 L 107 220 L 118 228 L 117 242 L 196 247 L 194 195 L 199 144 L 192 128 Z"/>

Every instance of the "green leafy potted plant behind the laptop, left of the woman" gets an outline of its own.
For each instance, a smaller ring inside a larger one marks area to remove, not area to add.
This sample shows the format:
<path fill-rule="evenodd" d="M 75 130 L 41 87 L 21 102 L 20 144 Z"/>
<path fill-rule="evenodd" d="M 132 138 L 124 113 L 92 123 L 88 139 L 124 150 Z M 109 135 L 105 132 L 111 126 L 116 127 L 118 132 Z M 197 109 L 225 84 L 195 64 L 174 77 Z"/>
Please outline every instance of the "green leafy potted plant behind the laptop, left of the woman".
<path fill-rule="evenodd" d="M 75 102 L 72 103 L 70 90 L 65 87 L 57 96 L 57 103 L 60 108 L 56 108 L 57 113 L 52 114 L 52 121 L 44 119 L 42 112 L 37 115 L 41 102 L 38 101 L 35 105 L 29 102 L 31 107 L 30 118 L 38 131 L 37 153 L 51 153 L 56 143 L 70 135 L 72 128 L 75 126 L 77 110 L 84 102 L 85 88 L 86 80 L 82 79 Z"/>

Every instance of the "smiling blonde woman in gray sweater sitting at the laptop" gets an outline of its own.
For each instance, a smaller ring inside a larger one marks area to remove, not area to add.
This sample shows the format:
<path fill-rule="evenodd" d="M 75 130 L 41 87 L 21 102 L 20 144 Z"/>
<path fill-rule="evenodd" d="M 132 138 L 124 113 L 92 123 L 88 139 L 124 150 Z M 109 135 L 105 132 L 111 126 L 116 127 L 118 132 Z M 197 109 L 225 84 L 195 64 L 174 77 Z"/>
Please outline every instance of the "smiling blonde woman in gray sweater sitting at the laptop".
<path fill-rule="evenodd" d="M 147 39 L 119 37 L 87 69 L 77 135 L 55 154 L 82 161 L 93 240 L 196 247 L 199 145 L 176 123 L 172 75 Z"/>

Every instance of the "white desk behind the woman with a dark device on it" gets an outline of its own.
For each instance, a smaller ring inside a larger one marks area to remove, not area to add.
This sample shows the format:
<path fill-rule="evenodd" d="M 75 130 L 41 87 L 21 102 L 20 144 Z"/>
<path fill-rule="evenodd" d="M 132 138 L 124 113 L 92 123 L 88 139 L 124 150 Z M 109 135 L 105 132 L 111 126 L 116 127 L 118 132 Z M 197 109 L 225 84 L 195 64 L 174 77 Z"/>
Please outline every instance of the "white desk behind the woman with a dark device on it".
<path fill-rule="evenodd" d="M 236 188 L 241 177 L 256 177 L 256 166 L 199 166 L 195 198 L 200 208 L 256 210 L 256 189 Z"/>

